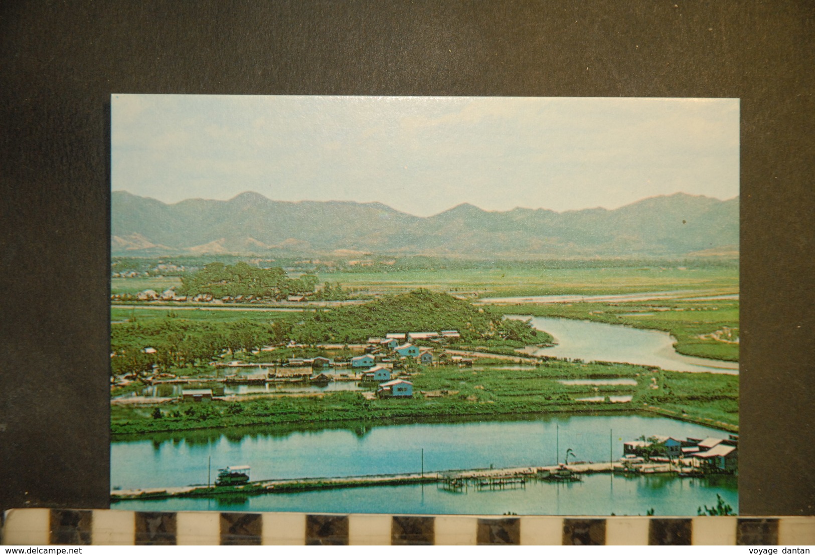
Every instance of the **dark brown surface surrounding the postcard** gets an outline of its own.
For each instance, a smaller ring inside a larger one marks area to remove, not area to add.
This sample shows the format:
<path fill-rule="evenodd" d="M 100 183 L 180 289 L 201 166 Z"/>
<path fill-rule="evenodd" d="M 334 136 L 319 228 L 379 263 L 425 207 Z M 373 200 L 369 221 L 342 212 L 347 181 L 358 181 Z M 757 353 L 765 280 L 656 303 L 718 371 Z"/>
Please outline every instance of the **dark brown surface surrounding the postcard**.
<path fill-rule="evenodd" d="M 742 514 L 815 513 L 810 2 L 2 2 L 0 509 L 108 506 L 109 95 L 742 99 Z"/>

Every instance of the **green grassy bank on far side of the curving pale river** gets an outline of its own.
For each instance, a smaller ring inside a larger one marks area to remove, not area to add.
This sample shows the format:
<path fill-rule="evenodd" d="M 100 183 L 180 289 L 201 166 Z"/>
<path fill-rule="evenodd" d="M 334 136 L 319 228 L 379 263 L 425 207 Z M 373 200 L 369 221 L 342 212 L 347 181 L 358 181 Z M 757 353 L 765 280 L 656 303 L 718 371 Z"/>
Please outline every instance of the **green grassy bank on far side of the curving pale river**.
<path fill-rule="evenodd" d="M 586 319 L 658 329 L 676 337 L 675 348 L 682 355 L 738 362 L 738 343 L 722 341 L 738 337 L 738 301 L 575 302 L 491 308 L 503 314 Z"/>

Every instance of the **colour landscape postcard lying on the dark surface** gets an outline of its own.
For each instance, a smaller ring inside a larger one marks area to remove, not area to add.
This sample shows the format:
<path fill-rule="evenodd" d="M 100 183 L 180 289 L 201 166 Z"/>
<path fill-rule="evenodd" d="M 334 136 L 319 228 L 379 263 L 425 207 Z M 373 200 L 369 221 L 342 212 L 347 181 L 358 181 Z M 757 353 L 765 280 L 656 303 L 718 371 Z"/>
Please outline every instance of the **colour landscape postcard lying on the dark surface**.
<path fill-rule="evenodd" d="M 738 99 L 112 95 L 113 509 L 738 513 Z"/>

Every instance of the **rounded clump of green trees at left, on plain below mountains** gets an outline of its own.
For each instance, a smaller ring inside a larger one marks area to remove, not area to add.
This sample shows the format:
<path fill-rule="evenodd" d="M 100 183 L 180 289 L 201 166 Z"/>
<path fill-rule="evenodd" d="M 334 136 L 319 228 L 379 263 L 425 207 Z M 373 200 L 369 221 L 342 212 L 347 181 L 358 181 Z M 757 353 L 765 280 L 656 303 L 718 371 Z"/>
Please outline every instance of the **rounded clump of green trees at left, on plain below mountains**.
<path fill-rule="evenodd" d="M 181 279 L 181 293 L 197 295 L 209 293 L 213 297 L 271 297 L 285 298 L 291 294 L 314 293 L 317 276 L 304 274 L 289 278 L 283 268 L 258 268 L 246 262 L 227 265 L 211 262 L 195 274 Z"/>

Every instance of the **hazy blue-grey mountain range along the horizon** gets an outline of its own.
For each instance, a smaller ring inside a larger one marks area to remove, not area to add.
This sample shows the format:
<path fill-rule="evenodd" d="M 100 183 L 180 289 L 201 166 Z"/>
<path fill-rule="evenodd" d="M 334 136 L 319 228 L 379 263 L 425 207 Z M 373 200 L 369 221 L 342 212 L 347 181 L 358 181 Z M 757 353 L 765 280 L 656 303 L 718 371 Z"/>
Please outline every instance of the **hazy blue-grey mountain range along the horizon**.
<path fill-rule="evenodd" d="M 615 210 L 487 212 L 463 204 L 420 218 L 380 203 L 284 202 L 255 192 L 174 205 L 112 193 L 112 253 L 423 254 L 585 258 L 738 253 L 738 197 L 676 193 Z M 722 254 L 724 255 L 724 254 Z"/>

